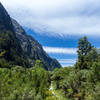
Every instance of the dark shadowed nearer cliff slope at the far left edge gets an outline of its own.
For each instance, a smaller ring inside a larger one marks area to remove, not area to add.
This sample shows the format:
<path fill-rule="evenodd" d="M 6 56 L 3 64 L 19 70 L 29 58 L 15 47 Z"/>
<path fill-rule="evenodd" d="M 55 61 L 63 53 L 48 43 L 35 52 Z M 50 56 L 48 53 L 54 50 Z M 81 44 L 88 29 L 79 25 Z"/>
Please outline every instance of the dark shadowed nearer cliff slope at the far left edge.
<path fill-rule="evenodd" d="M 29 67 L 19 40 L 16 38 L 14 26 L 5 8 L 0 3 L 0 52 L 4 52 L 3 59 L 14 65 Z"/>

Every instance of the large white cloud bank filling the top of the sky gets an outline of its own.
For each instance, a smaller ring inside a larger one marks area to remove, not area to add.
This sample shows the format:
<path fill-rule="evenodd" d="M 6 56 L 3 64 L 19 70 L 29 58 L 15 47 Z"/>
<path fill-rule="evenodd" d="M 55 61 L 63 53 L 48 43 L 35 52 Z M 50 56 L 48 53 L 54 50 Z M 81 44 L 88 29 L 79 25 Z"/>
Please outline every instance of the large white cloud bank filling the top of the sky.
<path fill-rule="evenodd" d="M 100 36 L 100 0 L 1 0 L 11 17 L 40 34 Z"/>

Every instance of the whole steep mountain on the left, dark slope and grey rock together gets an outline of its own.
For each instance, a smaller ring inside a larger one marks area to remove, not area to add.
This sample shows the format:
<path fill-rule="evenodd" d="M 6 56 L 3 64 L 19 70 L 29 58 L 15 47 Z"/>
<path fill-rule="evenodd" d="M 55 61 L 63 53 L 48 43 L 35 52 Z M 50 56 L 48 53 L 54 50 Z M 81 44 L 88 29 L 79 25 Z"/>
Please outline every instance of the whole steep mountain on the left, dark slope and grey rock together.
<path fill-rule="evenodd" d="M 4 58 L 8 62 L 13 62 L 16 65 L 33 67 L 36 60 L 41 60 L 46 70 L 53 70 L 54 68 L 61 67 L 56 59 L 52 59 L 48 56 L 38 41 L 32 36 L 27 35 L 22 26 L 9 16 L 1 3 L 0 38 L 6 40 L 3 41 L 3 46 L 0 46 L 0 50 L 6 51 Z"/>

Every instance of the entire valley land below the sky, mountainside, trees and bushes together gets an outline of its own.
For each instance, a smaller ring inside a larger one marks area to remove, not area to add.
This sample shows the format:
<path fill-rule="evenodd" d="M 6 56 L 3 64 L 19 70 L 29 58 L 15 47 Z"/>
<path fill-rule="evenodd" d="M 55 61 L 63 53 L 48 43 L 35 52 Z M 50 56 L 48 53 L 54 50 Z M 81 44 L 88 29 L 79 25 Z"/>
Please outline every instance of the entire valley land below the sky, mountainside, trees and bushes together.
<path fill-rule="evenodd" d="M 0 100 L 100 100 L 100 49 L 83 36 L 77 55 L 62 67 L 0 3 Z"/>

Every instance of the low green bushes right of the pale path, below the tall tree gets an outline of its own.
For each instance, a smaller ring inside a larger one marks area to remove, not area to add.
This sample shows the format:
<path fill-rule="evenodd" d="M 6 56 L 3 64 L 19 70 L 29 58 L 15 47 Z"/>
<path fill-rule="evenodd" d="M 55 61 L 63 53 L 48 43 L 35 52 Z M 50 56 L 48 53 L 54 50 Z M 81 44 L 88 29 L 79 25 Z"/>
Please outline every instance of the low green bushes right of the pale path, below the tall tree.
<path fill-rule="evenodd" d="M 62 91 L 69 99 L 99 100 L 94 98 L 95 96 L 100 98 L 100 70 L 97 72 L 93 70 L 94 68 L 92 70 L 84 69 L 79 71 L 70 67 L 63 68 L 53 72 L 52 80 L 56 83 L 56 89 Z"/>

